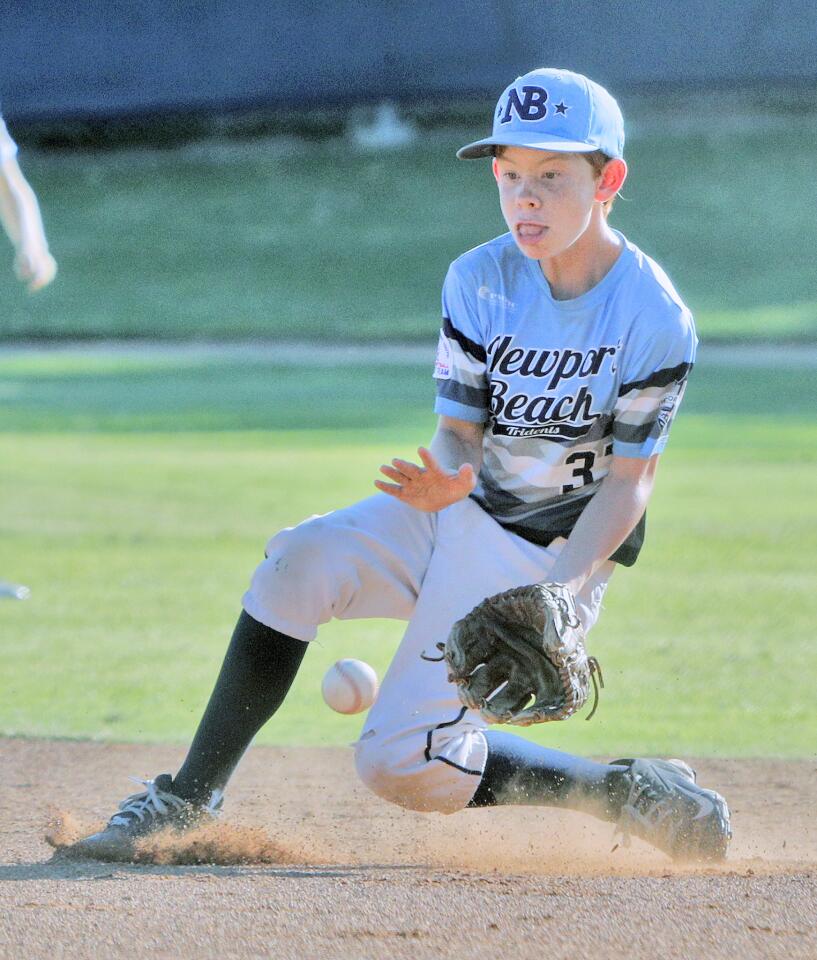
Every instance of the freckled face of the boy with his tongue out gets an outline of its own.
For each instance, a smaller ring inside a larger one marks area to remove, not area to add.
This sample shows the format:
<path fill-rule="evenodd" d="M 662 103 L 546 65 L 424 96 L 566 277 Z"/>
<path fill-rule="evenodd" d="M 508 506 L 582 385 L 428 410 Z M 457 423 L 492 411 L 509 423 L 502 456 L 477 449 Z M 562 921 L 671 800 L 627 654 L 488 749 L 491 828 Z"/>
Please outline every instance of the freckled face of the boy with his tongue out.
<path fill-rule="evenodd" d="M 587 230 L 603 178 L 581 155 L 504 147 L 493 169 L 502 215 L 525 256 L 556 257 Z"/>

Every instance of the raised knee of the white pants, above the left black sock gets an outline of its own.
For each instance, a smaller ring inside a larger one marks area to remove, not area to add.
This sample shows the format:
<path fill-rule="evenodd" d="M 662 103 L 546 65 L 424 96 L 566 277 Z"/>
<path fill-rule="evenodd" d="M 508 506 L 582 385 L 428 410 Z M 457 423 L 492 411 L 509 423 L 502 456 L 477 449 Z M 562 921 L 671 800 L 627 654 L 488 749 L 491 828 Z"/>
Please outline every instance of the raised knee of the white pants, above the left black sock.
<path fill-rule="evenodd" d="M 343 531 L 322 519 L 276 534 L 250 588 L 264 605 L 298 611 L 315 624 L 342 611 L 360 585 Z"/>

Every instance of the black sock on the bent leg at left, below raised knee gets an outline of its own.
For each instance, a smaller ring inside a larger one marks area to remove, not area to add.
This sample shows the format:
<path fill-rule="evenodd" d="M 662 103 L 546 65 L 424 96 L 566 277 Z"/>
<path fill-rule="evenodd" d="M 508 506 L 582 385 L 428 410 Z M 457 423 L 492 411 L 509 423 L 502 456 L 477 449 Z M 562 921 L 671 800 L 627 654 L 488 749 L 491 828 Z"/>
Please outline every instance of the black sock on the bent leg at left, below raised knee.
<path fill-rule="evenodd" d="M 207 803 L 223 790 L 252 738 L 284 701 L 308 644 L 242 610 L 221 672 L 173 792 Z"/>

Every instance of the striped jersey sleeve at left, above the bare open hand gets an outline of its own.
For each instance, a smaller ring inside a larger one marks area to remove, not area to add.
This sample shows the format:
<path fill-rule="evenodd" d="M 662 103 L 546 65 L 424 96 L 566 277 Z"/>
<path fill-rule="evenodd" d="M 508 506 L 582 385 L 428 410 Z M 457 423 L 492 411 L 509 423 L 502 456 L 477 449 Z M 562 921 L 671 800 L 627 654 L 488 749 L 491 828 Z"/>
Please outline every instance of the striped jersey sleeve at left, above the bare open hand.
<path fill-rule="evenodd" d="M 454 265 L 443 285 L 443 325 L 437 344 L 434 379 L 436 413 L 472 423 L 485 423 L 489 414 L 487 353 L 479 317 Z"/>

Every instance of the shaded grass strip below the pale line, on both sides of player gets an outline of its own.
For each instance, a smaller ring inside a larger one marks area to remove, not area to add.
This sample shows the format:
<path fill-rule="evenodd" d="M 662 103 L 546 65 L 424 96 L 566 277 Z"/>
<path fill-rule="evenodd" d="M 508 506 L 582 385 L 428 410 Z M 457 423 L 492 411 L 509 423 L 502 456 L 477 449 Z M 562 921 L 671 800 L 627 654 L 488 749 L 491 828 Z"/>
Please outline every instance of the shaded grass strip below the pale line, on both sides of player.
<path fill-rule="evenodd" d="M 81 358 L 74 369 L 44 356 L 0 362 L 0 432 L 221 432 L 418 429 L 433 426 L 430 366 L 310 366 L 269 361 L 167 360 L 116 368 Z M 813 371 L 694 371 L 684 413 L 813 417 Z"/>

